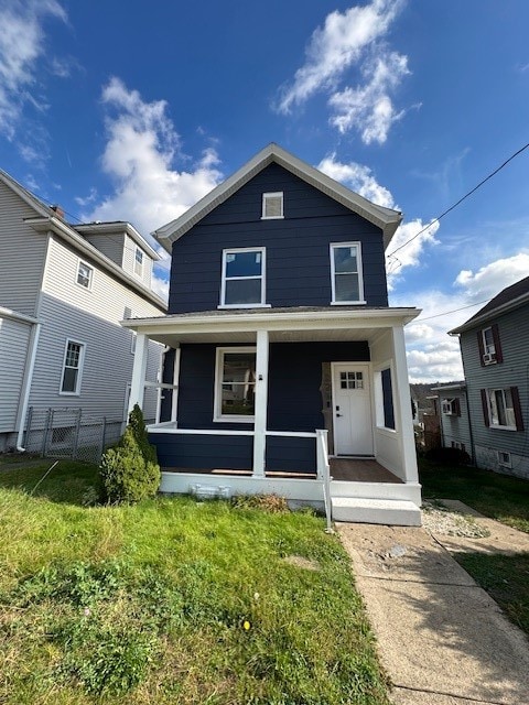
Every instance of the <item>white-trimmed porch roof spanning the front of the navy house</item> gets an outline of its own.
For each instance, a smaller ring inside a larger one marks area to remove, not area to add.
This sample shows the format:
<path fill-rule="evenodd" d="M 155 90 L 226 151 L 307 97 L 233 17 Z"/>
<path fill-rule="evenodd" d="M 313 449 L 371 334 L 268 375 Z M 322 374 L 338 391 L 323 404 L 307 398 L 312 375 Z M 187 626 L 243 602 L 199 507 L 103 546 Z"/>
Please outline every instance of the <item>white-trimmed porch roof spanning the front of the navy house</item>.
<path fill-rule="evenodd" d="M 300 306 L 292 308 L 218 310 L 128 318 L 126 328 L 171 347 L 180 343 L 255 343 L 268 330 L 271 343 L 373 340 L 384 328 L 403 326 L 419 308 L 368 306 Z"/>

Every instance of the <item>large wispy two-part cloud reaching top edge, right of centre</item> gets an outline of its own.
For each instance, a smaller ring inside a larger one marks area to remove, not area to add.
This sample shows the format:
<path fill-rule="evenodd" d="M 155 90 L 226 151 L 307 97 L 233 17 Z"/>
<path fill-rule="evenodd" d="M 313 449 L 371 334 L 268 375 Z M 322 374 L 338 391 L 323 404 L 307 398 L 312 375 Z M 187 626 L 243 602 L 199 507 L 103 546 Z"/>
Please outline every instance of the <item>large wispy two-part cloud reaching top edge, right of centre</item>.
<path fill-rule="evenodd" d="M 382 41 L 403 4 L 403 0 L 373 0 L 343 13 L 331 12 L 312 34 L 304 65 L 280 90 L 277 110 L 287 115 L 325 91 L 332 126 L 342 133 L 358 130 L 366 144 L 384 143 L 391 124 L 403 115 L 390 94 L 410 73 L 407 57 L 389 51 Z M 353 67 L 359 72 L 354 88 L 346 77 Z"/>

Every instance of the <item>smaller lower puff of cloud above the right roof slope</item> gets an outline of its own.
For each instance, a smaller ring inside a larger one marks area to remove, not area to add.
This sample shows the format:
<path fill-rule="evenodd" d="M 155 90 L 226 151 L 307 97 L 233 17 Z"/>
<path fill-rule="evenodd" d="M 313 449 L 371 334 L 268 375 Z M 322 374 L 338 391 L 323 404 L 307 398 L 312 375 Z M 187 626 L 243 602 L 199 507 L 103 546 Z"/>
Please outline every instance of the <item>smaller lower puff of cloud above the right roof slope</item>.
<path fill-rule="evenodd" d="M 388 132 L 403 112 L 397 112 L 389 93 L 409 74 L 406 56 L 392 52 L 381 54 L 363 67 L 365 84 L 334 93 L 330 105 L 335 108 L 331 124 L 342 134 L 356 128 L 365 144 L 384 144 Z"/>

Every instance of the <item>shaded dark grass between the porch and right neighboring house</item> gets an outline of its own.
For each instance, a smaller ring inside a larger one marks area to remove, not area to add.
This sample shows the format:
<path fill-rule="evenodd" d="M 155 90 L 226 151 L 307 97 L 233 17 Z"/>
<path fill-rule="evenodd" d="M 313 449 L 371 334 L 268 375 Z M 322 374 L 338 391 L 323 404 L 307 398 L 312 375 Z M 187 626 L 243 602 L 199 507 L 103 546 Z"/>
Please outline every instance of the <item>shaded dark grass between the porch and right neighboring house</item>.
<path fill-rule="evenodd" d="M 420 480 L 425 499 L 458 499 L 482 514 L 529 533 L 529 482 L 466 466 L 447 466 L 421 458 Z"/>

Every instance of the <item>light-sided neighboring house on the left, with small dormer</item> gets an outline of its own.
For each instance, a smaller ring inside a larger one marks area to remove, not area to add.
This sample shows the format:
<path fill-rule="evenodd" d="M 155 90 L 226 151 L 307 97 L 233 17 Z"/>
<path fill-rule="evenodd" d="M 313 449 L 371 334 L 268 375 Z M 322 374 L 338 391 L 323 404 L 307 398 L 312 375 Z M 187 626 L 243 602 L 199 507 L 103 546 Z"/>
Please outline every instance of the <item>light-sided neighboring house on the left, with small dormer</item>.
<path fill-rule="evenodd" d="M 0 452 L 22 447 L 30 408 L 123 421 L 136 338 L 120 322 L 165 312 L 156 252 L 128 223 L 67 224 L 2 171 L 0 247 Z M 148 382 L 162 352 L 149 346 Z"/>

